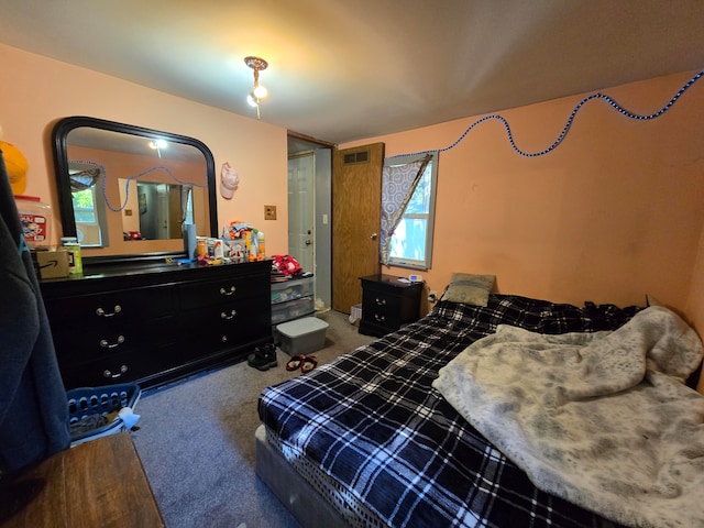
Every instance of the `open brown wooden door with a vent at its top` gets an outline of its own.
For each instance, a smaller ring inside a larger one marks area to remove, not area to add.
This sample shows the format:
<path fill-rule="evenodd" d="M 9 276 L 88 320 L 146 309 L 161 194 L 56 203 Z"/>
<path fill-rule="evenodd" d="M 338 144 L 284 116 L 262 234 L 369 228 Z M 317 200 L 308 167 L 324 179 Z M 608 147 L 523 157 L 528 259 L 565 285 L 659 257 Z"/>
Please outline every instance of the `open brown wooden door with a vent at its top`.
<path fill-rule="evenodd" d="M 332 308 L 362 302 L 360 277 L 380 272 L 384 143 L 334 151 L 332 162 Z"/>

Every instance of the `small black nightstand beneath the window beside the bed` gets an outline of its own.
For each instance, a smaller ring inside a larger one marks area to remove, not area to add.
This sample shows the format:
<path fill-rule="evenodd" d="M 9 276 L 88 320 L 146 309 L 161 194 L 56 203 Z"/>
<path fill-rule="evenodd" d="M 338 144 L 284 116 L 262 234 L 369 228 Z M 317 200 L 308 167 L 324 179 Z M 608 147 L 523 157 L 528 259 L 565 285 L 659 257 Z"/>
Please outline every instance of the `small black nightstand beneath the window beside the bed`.
<path fill-rule="evenodd" d="M 424 283 L 393 275 L 370 275 L 362 280 L 360 333 L 382 337 L 417 321 Z"/>

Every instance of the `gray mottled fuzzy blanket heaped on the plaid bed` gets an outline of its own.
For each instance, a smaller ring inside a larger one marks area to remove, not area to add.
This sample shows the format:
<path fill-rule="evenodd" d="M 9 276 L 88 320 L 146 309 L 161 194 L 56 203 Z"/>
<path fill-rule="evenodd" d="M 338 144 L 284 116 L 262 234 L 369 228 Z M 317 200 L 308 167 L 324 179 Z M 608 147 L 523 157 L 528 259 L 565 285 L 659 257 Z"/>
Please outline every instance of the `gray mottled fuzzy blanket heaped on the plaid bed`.
<path fill-rule="evenodd" d="M 697 334 L 662 307 L 609 332 L 509 326 L 433 387 L 537 487 L 618 522 L 704 527 L 704 396 L 684 385 Z"/>

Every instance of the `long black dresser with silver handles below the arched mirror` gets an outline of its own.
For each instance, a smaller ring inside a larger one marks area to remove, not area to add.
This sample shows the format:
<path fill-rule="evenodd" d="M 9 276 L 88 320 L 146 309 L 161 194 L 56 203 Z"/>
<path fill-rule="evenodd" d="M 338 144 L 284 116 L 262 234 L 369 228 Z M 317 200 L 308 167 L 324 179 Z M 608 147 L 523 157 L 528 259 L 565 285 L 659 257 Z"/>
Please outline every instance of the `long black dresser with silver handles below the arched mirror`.
<path fill-rule="evenodd" d="M 151 387 L 272 342 L 270 261 L 88 272 L 41 289 L 66 389 Z"/>

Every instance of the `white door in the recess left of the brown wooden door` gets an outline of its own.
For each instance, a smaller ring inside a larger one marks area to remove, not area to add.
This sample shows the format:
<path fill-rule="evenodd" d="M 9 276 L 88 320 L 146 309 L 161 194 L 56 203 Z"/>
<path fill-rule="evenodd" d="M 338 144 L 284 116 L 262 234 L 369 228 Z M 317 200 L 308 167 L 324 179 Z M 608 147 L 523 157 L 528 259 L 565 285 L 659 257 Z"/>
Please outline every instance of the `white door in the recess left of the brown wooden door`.
<path fill-rule="evenodd" d="M 314 161 L 312 153 L 288 158 L 288 253 L 311 273 L 316 273 Z"/>

